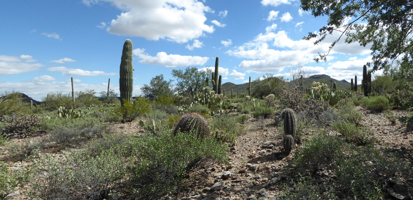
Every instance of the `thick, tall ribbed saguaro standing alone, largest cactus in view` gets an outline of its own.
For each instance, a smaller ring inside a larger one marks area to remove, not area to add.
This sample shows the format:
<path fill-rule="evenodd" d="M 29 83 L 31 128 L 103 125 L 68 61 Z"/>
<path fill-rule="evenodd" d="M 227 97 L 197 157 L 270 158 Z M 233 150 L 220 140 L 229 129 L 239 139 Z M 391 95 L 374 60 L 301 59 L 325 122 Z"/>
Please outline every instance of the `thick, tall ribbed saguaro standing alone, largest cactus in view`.
<path fill-rule="evenodd" d="M 126 39 L 123 44 L 122 57 L 120 59 L 120 104 L 123 105 L 123 99 L 130 101 L 132 99 L 133 88 L 133 66 L 132 66 L 132 41 Z"/>

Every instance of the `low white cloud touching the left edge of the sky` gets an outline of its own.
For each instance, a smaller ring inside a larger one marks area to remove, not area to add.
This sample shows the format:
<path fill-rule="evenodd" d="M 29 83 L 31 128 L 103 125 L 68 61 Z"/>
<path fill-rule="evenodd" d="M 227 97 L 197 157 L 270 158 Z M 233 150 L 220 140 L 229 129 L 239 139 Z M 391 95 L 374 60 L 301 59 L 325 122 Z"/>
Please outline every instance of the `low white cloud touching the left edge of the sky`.
<path fill-rule="evenodd" d="M 31 55 L 0 55 L 0 75 L 12 75 L 39 70 L 40 67 L 44 66 L 43 64 L 28 63 L 36 61 Z"/>

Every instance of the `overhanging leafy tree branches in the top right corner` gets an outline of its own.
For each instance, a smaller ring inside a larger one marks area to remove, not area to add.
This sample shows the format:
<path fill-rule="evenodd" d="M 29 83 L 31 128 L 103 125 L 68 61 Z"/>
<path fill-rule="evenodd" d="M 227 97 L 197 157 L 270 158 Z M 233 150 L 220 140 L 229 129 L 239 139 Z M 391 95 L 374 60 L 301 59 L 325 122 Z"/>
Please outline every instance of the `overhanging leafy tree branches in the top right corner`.
<path fill-rule="evenodd" d="M 372 71 L 386 68 L 399 60 L 399 74 L 413 78 L 413 0 L 301 0 L 301 7 L 314 16 L 327 15 L 327 24 L 306 39 L 315 38 L 315 44 L 327 34 L 339 31 L 340 36 L 329 51 L 315 58 L 326 60 L 334 45 L 345 42 L 370 45 L 372 62 L 366 63 Z"/>

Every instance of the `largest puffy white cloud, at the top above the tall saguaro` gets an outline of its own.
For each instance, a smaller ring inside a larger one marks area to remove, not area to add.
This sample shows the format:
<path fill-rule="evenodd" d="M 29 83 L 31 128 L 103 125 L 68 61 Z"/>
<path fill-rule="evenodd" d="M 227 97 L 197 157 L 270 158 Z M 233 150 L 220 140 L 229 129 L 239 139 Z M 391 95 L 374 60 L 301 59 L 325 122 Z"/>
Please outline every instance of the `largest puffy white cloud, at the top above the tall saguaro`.
<path fill-rule="evenodd" d="M 99 0 L 83 0 L 91 5 Z M 101 0 L 110 2 L 122 12 L 107 24 L 111 34 L 167 39 L 184 43 L 214 32 L 205 24 L 205 12 L 213 10 L 198 0 Z"/>

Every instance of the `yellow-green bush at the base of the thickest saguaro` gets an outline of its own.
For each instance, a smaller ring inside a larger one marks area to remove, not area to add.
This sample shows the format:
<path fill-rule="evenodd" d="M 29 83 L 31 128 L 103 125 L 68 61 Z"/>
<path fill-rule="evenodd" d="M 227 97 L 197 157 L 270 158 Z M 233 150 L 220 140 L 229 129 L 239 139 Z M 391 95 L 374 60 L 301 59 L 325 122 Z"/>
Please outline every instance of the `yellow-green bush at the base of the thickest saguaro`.
<path fill-rule="evenodd" d="M 122 115 L 122 123 L 133 121 L 137 116 L 149 111 L 151 111 L 150 102 L 143 97 L 136 98 L 133 103 L 125 99 L 123 105 L 113 110 L 115 114 Z"/>

